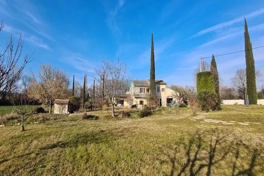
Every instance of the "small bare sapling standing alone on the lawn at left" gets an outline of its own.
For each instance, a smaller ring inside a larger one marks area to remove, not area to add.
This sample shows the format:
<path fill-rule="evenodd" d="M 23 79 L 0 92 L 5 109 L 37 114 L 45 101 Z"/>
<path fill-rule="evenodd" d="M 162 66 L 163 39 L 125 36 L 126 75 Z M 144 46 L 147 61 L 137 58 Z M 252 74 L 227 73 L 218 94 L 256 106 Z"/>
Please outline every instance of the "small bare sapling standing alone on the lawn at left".
<path fill-rule="evenodd" d="M 19 95 L 19 102 L 13 102 L 14 104 L 14 108 L 13 110 L 21 115 L 21 131 L 24 131 L 25 130 L 25 127 L 24 127 L 24 117 L 27 113 L 27 108 L 28 108 L 28 104 L 30 102 L 30 99 L 29 97 L 27 96 L 26 92 L 23 91 L 20 95 Z"/>

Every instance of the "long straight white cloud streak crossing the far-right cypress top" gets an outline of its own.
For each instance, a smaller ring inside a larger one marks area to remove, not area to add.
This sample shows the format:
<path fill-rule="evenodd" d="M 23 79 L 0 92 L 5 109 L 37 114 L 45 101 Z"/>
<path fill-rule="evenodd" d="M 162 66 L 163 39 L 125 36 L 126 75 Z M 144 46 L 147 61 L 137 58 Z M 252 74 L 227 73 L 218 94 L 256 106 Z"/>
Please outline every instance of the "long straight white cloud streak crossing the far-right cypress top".
<path fill-rule="evenodd" d="M 216 24 L 216 25 L 214 25 L 212 27 L 203 29 L 203 30 L 199 31 L 198 33 L 194 34 L 194 36 L 192 36 L 191 38 L 198 37 L 198 36 L 202 36 L 203 34 L 206 34 L 206 33 L 215 31 L 217 29 L 220 29 L 220 28 L 223 28 L 223 27 L 230 26 L 230 25 L 233 25 L 235 23 L 241 22 L 241 21 L 244 20 L 244 17 L 246 17 L 247 19 L 249 19 L 249 18 L 258 16 L 258 15 L 261 15 L 263 13 L 264 13 L 264 8 L 259 9 L 259 10 L 256 10 L 254 12 L 251 12 L 249 14 L 246 14 L 246 15 L 243 15 L 241 17 L 235 18 L 233 20 L 229 20 L 229 21 L 226 21 L 226 22 L 223 22 L 223 23 L 219 23 L 219 24 Z"/>

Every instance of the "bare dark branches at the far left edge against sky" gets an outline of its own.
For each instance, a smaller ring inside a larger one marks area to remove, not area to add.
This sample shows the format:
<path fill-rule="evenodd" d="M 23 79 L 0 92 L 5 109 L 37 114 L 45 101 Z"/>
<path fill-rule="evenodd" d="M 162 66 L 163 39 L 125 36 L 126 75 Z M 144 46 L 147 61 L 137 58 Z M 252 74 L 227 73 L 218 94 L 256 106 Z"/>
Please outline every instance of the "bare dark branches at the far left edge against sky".
<path fill-rule="evenodd" d="M 4 28 L 3 22 L 0 25 L 0 31 Z M 18 38 L 17 45 L 14 46 L 13 38 L 7 43 L 3 52 L 0 53 L 0 91 L 5 90 L 10 84 L 14 83 L 20 77 L 24 67 L 31 61 L 28 55 L 24 56 L 21 65 L 18 66 L 23 49 L 22 34 Z"/>

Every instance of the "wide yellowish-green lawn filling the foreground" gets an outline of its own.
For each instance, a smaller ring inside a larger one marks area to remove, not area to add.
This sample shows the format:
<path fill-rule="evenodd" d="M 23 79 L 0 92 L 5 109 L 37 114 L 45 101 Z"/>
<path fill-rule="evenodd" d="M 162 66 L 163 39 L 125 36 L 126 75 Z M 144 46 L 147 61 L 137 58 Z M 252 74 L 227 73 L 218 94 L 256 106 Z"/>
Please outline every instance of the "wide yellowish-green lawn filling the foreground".
<path fill-rule="evenodd" d="M 264 175 L 263 105 L 89 114 L 0 127 L 0 175 Z"/>

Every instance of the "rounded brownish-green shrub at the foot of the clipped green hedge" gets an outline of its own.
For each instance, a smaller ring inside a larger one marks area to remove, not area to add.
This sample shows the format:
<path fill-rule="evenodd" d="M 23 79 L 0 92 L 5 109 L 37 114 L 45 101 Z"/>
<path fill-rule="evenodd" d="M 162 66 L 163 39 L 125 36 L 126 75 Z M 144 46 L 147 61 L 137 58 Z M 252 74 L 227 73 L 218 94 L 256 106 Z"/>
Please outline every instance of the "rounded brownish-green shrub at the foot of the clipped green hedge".
<path fill-rule="evenodd" d="M 202 111 L 220 110 L 219 97 L 215 92 L 202 90 L 198 93 L 197 99 Z"/>

